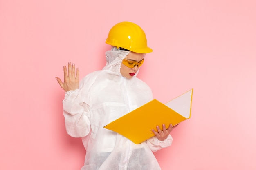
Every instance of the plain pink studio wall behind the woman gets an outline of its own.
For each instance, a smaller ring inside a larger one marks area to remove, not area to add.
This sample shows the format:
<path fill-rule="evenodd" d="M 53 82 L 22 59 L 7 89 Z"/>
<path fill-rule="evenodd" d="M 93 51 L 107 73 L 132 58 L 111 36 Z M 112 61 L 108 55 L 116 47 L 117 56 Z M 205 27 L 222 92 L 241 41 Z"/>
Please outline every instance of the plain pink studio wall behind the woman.
<path fill-rule="evenodd" d="M 63 65 L 101 69 L 109 29 L 139 24 L 139 78 L 161 102 L 194 88 L 191 119 L 155 153 L 162 170 L 256 169 L 254 0 L 0 0 L 0 169 L 80 170 L 65 132 Z"/>

